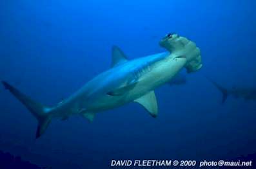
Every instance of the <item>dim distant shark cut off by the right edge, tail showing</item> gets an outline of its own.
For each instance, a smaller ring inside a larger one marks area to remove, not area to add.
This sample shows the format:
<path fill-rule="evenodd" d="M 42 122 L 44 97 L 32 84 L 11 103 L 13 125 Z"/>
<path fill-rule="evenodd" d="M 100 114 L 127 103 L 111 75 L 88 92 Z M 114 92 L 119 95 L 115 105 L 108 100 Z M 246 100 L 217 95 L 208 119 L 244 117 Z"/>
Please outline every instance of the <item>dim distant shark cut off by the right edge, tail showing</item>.
<path fill-rule="evenodd" d="M 209 78 L 208 78 L 209 79 Z M 222 103 L 226 101 L 228 95 L 234 96 L 235 98 L 244 98 L 244 100 L 256 100 L 256 88 L 238 88 L 233 87 L 232 89 L 226 89 L 221 85 L 217 84 L 213 80 L 209 79 L 213 85 L 222 93 Z"/>

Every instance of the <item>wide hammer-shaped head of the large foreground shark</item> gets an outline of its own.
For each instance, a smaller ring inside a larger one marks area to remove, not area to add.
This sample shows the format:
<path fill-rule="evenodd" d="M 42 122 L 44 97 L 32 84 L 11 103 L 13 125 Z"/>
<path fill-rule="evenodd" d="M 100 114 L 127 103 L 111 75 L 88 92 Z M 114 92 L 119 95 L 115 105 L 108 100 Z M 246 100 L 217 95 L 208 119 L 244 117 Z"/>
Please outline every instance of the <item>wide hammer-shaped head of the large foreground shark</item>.
<path fill-rule="evenodd" d="M 201 51 L 191 40 L 180 37 L 176 33 L 168 33 L 159 44 L 170 51 L 173 57 L 186 58 L 184 67 L 188 73 L 201 69 Z"/>

